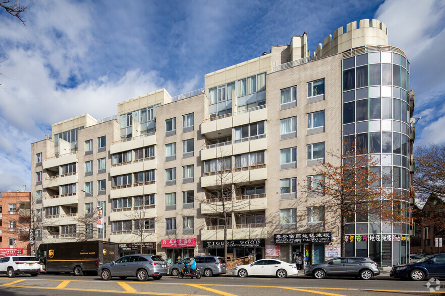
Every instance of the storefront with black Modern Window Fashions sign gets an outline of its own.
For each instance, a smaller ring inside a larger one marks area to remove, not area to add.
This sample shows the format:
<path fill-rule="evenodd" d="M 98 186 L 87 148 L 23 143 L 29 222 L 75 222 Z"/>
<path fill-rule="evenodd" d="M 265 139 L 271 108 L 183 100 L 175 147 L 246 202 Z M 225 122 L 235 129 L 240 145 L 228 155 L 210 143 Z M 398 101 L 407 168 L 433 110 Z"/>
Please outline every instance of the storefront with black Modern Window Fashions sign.
<path fill-rule="evenodd" d="M 324 249 L 326 244 L 331 242 L 330 232 L 318 233 L 295 233 L 295 234 L 275 234 L 273 241 L 286 252 L 279 255 L 280 259 L 291 263 L 297 263 L 298 258 L 302 261 L 300 269 L 314 263 L 324 261 Z M 289 248 L 289 250 L 287 250 Z M 287 258 L 285 258 L 287 257 Z"/>

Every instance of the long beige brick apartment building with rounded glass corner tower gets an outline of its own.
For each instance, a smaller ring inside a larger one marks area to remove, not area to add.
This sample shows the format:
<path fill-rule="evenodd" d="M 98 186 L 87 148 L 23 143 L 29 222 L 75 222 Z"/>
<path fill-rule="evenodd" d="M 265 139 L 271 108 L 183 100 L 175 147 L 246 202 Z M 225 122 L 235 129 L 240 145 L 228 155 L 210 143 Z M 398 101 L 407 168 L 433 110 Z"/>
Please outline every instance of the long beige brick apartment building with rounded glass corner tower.
<path fill-rule="evenodd" d="M 414 96 L 405 53 L 388 45 L 378 20 L 337 29 L 314 54 L 307 44 L 306 33 L 294 36 L 208 73 L 197 91 L 121 102 L 117 117 L 53 124 L 52 135 L 31 144 L 40 242 L 103 235 L 120 243 L 121 255 L 142 249 L 172 263 L 224 254 L 226 230 L 231 260 L 324 261 L 339 226 L 301 184 L 321 182 L 313 168 L 339 162 L 325 152 L 342 151 L 351 135 L 381 159 L 379 174 L 398 172 L 387 190 L 401 192 L 409 215 Z M 409 232 L 407 224 L 354 217 L 347 255 L 404 263 Z"/>

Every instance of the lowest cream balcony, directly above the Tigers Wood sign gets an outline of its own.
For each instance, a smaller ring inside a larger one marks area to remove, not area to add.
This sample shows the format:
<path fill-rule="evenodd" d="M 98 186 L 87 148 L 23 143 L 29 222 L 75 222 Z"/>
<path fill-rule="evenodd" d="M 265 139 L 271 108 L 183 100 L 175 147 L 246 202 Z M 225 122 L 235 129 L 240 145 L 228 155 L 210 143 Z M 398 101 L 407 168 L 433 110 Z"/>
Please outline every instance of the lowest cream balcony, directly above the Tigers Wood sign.
<path fill-rule="evenodd" d="M 237 224 L 227 226 L 228 240 L 265 239 L 267 229 L 265 223 Z M 224 225 L 205 226 L 201 230 L 201 240 L 221 240 L 224 238 Z"/>

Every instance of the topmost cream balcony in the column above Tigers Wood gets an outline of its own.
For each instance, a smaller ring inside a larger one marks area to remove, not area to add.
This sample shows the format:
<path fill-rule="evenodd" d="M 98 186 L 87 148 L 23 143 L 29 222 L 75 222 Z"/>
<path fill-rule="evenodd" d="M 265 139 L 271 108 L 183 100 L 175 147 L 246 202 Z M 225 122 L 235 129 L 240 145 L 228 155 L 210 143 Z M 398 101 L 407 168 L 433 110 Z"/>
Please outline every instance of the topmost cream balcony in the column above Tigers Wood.
<path fill-rule="evenodd" d="M 204 119 L 201 124 L 201 133 L 207 138 L 216 138 L 224 135 L 231 135 L 234 126 L 249 124 L 267 119 L 266 105 L 253 107 L 250 109 L 224 114 L 217 117 Z"/>

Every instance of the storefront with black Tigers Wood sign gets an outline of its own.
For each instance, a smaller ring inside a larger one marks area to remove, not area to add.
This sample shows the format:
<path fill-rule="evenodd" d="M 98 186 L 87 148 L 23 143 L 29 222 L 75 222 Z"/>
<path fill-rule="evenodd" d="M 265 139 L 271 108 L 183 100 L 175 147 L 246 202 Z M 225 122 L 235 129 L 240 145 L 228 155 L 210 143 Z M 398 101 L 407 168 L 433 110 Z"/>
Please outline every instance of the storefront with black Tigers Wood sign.
<path fill-rule="evenodd" d="M 207 255 L 224 257 L 224 240 L 202 243 Z M 227 240 L 227 257 L 230 261 L 248 257 L 253 261 L 263 259 L 264 247 L 265 239 Z"/>

